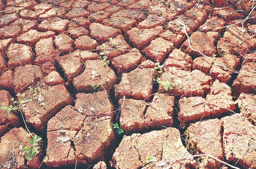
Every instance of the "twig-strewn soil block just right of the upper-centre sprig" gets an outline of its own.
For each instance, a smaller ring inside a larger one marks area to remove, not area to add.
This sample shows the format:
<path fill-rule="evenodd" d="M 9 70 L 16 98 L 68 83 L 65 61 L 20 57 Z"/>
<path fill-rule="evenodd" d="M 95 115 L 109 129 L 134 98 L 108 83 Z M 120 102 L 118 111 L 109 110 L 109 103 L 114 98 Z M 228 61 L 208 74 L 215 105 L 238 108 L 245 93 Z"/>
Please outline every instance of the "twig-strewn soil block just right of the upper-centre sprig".
<path fill-rule="evenodd" d="M 105 48 L 109 48 L 109 50 Z M 97 49 L 99 52 L 105 52 L 108 59 L 112 59 L 129 52 L 129 50 L 131 50 L 131 46 L 125 41 L 123 35 L 117 35 L 116 38 L 103 43 L 101 46 L 98 46 Z"/>

